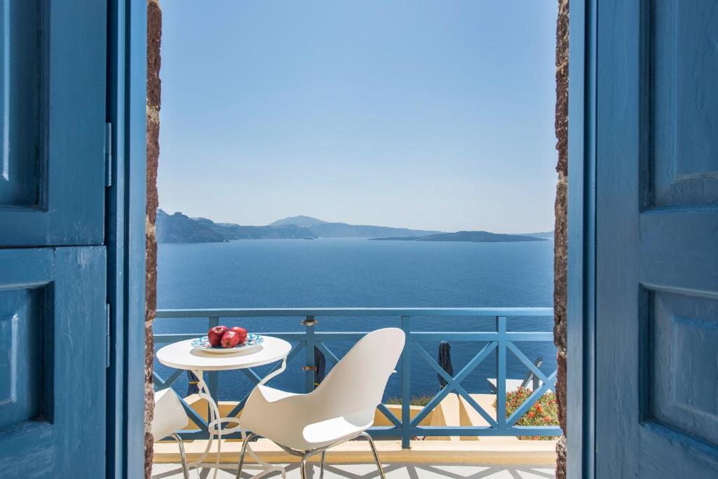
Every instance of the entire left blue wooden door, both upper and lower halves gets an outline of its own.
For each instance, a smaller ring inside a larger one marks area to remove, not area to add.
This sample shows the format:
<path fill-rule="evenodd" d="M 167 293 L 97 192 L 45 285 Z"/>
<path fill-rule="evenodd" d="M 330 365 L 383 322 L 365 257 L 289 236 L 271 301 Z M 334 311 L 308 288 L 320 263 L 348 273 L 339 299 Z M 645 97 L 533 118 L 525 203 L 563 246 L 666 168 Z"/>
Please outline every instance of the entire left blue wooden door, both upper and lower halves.
<path fill-rule="evenodd" d="M 0 477 L 101 478 L 106 2 L 0 0 Z"/>

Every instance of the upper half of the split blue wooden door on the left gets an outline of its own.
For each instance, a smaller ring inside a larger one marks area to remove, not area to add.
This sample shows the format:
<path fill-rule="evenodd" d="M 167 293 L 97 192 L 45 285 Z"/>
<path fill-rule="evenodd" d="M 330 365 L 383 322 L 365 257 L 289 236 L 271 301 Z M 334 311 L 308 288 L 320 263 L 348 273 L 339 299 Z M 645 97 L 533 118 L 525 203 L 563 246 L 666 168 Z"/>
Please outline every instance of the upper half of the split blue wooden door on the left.
<path fill-rule="evenodd" d="M 103 243 L 106 1 L 0 1 L 0 246 Z"/>

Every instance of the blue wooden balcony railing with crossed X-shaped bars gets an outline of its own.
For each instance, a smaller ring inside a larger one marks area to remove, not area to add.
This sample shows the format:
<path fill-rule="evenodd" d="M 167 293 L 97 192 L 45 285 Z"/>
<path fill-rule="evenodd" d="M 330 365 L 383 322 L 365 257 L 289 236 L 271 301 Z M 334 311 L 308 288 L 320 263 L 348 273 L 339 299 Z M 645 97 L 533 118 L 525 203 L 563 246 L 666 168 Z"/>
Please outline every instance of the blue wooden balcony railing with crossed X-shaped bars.
<path fill-rule="evenodd" d="M 337 363 L 339 358 L 332 353 L 327 347 L 327 343 L 332 341 L 353 341 L 356 342 L 366 332 L 325 332 L 315 331 L 314 325 L 317 324 L 317 318 L 320 317 L 395 317 L 400 320 L 401 329 L 406 333 L 406 345 L 401 353 L 401 361 L 398 373 L 401 374 L 401 417 L 391 414 L 386 406 L 380 405 L 379 410 L 384 414 L 391 426 L 373 427 L 370 434 L 373 437 L 401 437 L 402 447 L 409 447 L 412 437 L 421 436 L 560 436 L 561 429 L 551 426 L 517 426 L 516 422 L 520 419 L 533 404 L 546 393 L 546 391 L 555 390 L 556 371 L 549 375 L 544 374 L 534 363 L 526 357 L 526 355 L 516 346 L 515 343 L 521 342 L 552 342 L 554 340 L 551 331 L 508 331 L 507 319 L 512 317 L 553 317 L 554 310 L 552 308 L 533 308 L 533 307 L 511 307 L 511 308 L 311 308 L 311 309 L 230 309 L 230 310 L 158 310 L 158 318 L 198 318 L 207 322 L 203 327 L 197 325 L 197 332 L 182 334 L 155 334 L 154 343 L 156 345 L 164 345 L 174 343 L 176 341 L 196 338 L 204 335 L 205 332 L 213 326 L 220 324 L 222 317 L 243 317 L 243 318 L 261 318 L 261 317 L 281 317 L 281 318 L 300 318 L 304 330 L 300 332 L 259 332 L 258 334 L 268 334 L 276 338 L 282 338 L 292 343 L 292 350 L 287 359 L 288 363 L 292 358 L 298 357 L 304 353 L 304 389 L 309 392 L 314 389 L 314 347 L 318 348 L 327 358 L 327 363 Z M 411 320 L 416 317 L 492 317 L 495 319 L 495 330 L 493 331 L 441 331 L 426 332 L 416 331 L 411 328 Z M 426 341 L 449 340 L 452 342 L 476 342 L 486 343 L 480 350 L 473 355 L 470 361 L 454 376 L 449 376 L 444 369 L 434 361 L 432 355 L 426 352 L 421 343 Z M 489 414 L 482 408 L 477 401 L 462 386 L 462 381 L 475 370 L 475 368 L 485 361 L 493 351 L 496 351 L 496 369 L 495 377 L 498 378 L 496 383 L 496 417 Z M 411 371 L 414 365 L 411 363 L 411 353 L 416 351 L 426 363 L 441 375 L 446 381 L 447 386 L 439 390 L 437 394 L 429 401 L 419 414 L 411 417 Z M 528 371 L 533 373 L 541 381 L 541 385 L 535 389 L 524 403 L 506 417 L 506 356 L 507 354 L 516 355 L 521 363 L 523 363 Z M 276 366 L 279 367 L 279 366 Z M 256 371 L 251 369 L 242 370 L 243 373 L 253 382 L 258 383 L 261 380 Z M 158 373 L 154 373 L 154 383 L 157 389 L 170 386 L 177 381 L 184 371 L 175 370 L 169 377 L 162 378 Z M 218 392 L 218 372 L 208 371 L 207 376 L 208 388 L 210 394 L 217 399 Z M 286 373 L 285 373 L 286 374 Z M 247 396 L 238 402 L 228 416 L 236 416 L 243 408 Z M 477 411 L 478 414 L 485 419 L 488 426 L 465 426 L 465 427 L 431 427 L 421 426 L 419 423 L 426 418 L 437 405 L 449 393 L 456 393 L 461 396 L 467 404 Z M 200 439 L 208 437 L 207 422 L 200 414 L 192 409 L 188 404 L 182 401 L 187 413 L 195 424 L 200 425 L 200 429 L 192 431 L 184 431 L 180 435 L 185 439 Z M 226 437 L 239 437 L 236 433 Z"/>

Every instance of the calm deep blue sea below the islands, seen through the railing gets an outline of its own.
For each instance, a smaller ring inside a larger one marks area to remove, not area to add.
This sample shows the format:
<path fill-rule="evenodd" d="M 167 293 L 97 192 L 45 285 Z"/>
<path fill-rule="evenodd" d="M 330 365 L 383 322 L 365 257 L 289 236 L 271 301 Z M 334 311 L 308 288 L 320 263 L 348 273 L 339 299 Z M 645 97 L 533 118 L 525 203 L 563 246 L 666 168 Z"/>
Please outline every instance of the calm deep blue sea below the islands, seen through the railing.
<path fill-rule="evenodd" d="M 536 243 L 441 243 L 364 239 L 240 240 L 230 243 L 161 244 L 158 251 L 160 309 L 233 307 L 551 307 L 553 241 Z M 369 331 L 398 326 L 398 318 L 320 318 L 317 330 Z M 296 318 L 226 320 L 250 331 L 301 331 Z M 414 318 L 416 330 L 492 330 L 492 319 Z M 508 330 L 550 331 L 551 318 L 508 320 Z M 159 319 L 155 332 L 205 334 L 206 320 Z M 452 343 L 458 372 L 484 343 Z M 342 355 L 349 343 L 330 343 Z M 552 343 L 519 343 L 541 370 L 556 368 Z M 424 344 L 432 355 L 437 343 Z M 171 371 L 155 361 L 159 374 Z M 290 362 L 272 385 L 302 391 L 302 361 Z M 523 378 L 526 368 L 508 353 L 508 376 Z M 495 356 L 488 357 L 464 381 L 470 392 L 488 391 L 495 377 Z M 437 375 L 419 356 L 412 357 L 412 394 L 432 394 Z M 399 375 L 386 395 L 399 396 Z M 185 393 L 182 376 L 175 389 Z M 251 389 L 239 371 L 220 373 L 221 400 L 238 400 Z"/>

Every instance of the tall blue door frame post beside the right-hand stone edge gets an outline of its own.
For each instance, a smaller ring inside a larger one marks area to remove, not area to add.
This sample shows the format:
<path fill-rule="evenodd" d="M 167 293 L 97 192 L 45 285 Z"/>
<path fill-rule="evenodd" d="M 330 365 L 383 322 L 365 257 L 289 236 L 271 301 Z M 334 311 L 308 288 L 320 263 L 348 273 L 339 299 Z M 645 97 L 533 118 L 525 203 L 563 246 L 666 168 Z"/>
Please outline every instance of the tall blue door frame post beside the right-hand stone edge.
<path fill-rule="evenodd" d="M 596 1 L 569 4 L 567 477 L 595 476 Z"/>

